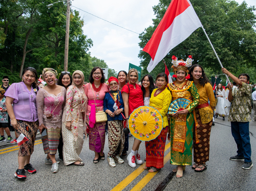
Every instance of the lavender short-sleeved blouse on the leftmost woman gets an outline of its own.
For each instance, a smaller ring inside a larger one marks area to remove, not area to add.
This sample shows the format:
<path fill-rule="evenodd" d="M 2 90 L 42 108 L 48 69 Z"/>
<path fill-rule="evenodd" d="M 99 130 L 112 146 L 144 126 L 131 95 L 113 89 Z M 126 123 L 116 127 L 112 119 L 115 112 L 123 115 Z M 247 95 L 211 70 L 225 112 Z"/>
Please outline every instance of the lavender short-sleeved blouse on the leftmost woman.
<path fill-rule="evenodd" d="M 15 118 L 23 121 L 37 121 L 36 94 L 31 86 L 28 90 L 25 83 L 13 83 L 5 93 L 6 97 L 13 98 L 13 112 Z"/>

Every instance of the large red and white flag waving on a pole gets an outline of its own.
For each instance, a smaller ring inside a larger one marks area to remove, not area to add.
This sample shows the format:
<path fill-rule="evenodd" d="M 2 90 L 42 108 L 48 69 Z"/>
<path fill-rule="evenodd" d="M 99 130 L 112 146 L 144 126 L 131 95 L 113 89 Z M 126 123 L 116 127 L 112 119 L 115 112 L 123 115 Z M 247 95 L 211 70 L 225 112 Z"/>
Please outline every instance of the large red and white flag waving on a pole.
<path fill-rule="evenodd" d="M 147 71 L 151 72 L 170 50 L 182 43 L 202 24 L 189 0 L 170 2 L 160 24 L 143 51 L 151 56 Z"/>

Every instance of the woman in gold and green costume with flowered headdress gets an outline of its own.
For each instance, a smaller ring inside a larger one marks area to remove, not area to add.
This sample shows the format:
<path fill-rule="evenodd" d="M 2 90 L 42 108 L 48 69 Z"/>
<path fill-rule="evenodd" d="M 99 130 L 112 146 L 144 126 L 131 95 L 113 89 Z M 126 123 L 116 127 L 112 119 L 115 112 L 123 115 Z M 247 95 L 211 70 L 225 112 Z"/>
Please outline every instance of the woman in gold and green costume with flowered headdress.
<path fill-rule="evenodd" d="M 177 172 L 176 177 L 181 178 L 185 166 L 191 165 L 192 163 L 193 128 L 196 117 L 194 109 L 199 104 L 199 94 L 193 81 L 187 80 L 189 79 L 189 75 L 186 76 L 188 72 L 187 68 L 192 65 L 192 56 L 188 56 L 186 61 L 182 59 L 177 60 L 175 56 L 172 58 L 172 68 L 174 68 L 175 72 L 173 77 L 176 78 L 173 83 L 168 84 L 168 89 L 172 93 L 172 102 L 180 98 L 189 101 L 185 109 L 172 114 L 170 118 L 170 163 L 178 165 L 173 172 Z M 171 103 L 168 114 L 170 114 L 172 109 Z"/>

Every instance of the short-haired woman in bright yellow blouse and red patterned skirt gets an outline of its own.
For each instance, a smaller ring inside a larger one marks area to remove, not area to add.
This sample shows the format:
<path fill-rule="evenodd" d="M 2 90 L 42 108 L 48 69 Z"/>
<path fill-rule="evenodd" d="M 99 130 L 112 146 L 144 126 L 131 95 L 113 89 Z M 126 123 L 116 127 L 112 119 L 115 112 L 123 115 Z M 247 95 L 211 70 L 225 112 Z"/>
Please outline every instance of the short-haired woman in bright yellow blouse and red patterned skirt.
<path fill-rule="evenodd" d="M 157 109 L 163 118 L 163 129 L 158 137 L 151 141 L 145 141 L 146 146 L 146 166 L 148 172 L 159 171 L 164 163 L 164 147 L 168 131 L 167 111 L 172 100 L 172 95 L 166 87 L 168 78 L 165 73 L 160 73 L 156 78 L 157 89 L 153 90 L 150 98 L 150 106 Z"/>

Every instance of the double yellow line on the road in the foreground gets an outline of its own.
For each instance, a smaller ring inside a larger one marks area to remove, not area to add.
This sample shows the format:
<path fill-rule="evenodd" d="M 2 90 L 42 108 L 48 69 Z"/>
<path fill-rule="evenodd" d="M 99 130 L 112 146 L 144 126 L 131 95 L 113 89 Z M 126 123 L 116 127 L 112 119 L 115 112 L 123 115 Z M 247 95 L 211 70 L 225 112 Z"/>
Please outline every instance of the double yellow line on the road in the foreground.
<path fill-rule="evenodd" d="M 168 150 L 170 147 L 170 142 L 165 145 L 164 152 Z M 164 164 L 170 160 L 170 152 L 164 157 Z M 138 167 L 133 173 L 123 179 L 119 184 L 117 184 L 111 191 L 120 191 L 123 190 L 127 185 L 129 185 L 136 177 L 138 177 L 144 171 L 145 162 Z M 157 174 L 155 173 L 148 173 L 144 176 L 131 190 L 141 190 L 145 187 L 145 185 L 150 182 L 150 180 Z"/>

